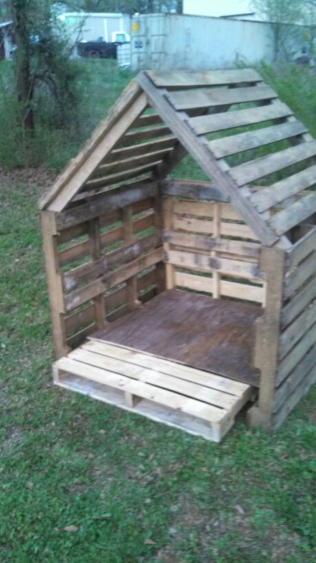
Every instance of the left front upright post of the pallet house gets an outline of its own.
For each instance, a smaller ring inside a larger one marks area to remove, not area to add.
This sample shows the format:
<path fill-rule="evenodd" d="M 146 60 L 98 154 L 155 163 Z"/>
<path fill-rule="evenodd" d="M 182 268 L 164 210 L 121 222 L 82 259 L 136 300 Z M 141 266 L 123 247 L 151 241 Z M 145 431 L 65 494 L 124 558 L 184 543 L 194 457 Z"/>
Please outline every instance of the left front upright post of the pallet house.
<path fill-rule="evenodd" d="M 41 229 L 48 283 L 48 297 L 50 300 L 50 316 L 52 319 L 54 357 L 55 359 L 59 359 L 60 357 L 67 355 L 69 348 L 66 342 L 63 280 L 59 270 L 57 246 L 58 233 L 56 230 L 54 212 L 41 211 Z"/>

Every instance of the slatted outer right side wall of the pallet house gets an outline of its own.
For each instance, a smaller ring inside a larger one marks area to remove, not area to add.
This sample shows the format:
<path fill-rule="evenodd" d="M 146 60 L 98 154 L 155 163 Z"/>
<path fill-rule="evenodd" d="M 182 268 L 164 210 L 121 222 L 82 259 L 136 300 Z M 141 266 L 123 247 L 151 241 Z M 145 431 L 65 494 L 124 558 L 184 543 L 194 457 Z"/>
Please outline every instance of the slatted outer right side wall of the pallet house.
<path fill-rule="evenodd" d="M 278 428 L 316 380 L 316 227 L 288 253 L 275 376 Z"/>

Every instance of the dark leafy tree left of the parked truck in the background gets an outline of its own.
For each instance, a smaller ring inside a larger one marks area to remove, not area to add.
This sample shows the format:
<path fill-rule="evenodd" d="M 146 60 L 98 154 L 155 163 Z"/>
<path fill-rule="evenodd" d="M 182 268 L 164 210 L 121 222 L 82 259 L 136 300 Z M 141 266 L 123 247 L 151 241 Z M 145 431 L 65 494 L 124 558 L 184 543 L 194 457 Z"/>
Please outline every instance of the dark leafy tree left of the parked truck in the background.
<path fill-rule="evenodd" d="M 32 131 L 41 97 L 50 97 L 55 122 L 63 122 L 75 102 L 77 68 L 51 0 L 6 0 L 1 8 L 12 18 L 16 52 L 14 76 L 23 127 Z"/>

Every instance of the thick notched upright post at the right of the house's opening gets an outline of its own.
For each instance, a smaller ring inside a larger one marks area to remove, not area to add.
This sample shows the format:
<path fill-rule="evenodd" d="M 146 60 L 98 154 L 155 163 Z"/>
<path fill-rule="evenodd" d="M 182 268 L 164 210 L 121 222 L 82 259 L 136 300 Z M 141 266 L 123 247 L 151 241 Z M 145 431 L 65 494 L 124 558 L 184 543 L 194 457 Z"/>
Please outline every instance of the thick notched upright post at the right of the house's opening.
<path fill-rule="evenodd" d="M 286 253 L 281 248 L 260 249 L 259 268 L 266 274 L 264 316 L 258 320 L 255 332 L 254 364 L 261 371 L 260 391 L 258 403 L 250 409 L 248 417 L 251 426 L 270 432 L 273 431 L 285 259 Z"/>

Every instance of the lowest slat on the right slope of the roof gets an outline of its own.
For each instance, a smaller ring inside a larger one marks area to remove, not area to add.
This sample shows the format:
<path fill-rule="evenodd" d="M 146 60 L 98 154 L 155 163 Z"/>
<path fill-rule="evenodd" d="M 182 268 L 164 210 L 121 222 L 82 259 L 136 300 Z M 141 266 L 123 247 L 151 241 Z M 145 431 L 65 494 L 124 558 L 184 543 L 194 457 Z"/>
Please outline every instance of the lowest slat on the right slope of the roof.
<path fill-rule="evenodd" d="M 316 142 L 316 141 L 315 141 Z M 277 235 L 282 235 L 286 233 L 287 230 L 291 229 L 295 225 L 313 215 L 316 211 L 316 191 L 302 197 L 295 204 L 292 204 L 286 209 L 282 209 L 279 213 L 276 213 L 268 219 L 269 225 L 275 230 Z"/>

